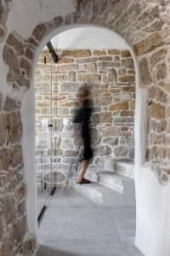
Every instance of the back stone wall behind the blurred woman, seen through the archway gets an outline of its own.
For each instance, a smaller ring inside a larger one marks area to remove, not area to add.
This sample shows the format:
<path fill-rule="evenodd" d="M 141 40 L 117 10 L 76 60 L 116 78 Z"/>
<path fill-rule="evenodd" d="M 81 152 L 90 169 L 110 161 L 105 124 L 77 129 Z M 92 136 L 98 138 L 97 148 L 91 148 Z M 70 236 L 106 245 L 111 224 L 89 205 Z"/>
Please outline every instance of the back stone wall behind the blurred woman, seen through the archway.
<path fill-rule="evenodd" d="M 35 76 L 37 171 L 50 170 L 52 129 L 53 170 L 75 170 L 81 158 L 80 135 L 71 137 L 71 119 L 78 108 L 77 91 L 88 83 L 91 89 L 92 165 L 104 167 L 105 157 L 134 158 L 135 71 L 132 55 L 118 49 L 58 50 L 59 64 L 51 66 L 48 51 L 42 51 Z M 44 56 L 47 63 L 44 64 Z M 52 99 L 51 99 L 52 67 Z M 52 108 L 51 108 L 52 100 Z M 41 172 L 39 172 L 41 174 Z"/>

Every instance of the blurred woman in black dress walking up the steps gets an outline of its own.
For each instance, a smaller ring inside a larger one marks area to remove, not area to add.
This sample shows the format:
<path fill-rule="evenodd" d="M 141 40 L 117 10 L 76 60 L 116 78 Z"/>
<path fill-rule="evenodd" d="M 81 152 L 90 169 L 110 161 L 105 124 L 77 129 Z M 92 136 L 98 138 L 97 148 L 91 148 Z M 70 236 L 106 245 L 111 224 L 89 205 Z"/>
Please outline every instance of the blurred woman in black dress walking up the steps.
<path fill-rule="evenodd" d="M 89 160 L 93 158 L 93 150 L 91 148 L 91 137 L 89 122 L 92 114 L 92 108 L 90 107 L 89 101 L 89 90 L 87 86 L 83 86 L 79 90 L 79 97 L 81 108 L 77 109 L 77 113 L 74 117 L 73 122 L 81 124 L 82 142 L 83 142 L 83 159 L 81 163 L 80 172 L 77 177 L 77 183 L 90 183 L 84 178 L 84 174 L 88 169 Z"/>

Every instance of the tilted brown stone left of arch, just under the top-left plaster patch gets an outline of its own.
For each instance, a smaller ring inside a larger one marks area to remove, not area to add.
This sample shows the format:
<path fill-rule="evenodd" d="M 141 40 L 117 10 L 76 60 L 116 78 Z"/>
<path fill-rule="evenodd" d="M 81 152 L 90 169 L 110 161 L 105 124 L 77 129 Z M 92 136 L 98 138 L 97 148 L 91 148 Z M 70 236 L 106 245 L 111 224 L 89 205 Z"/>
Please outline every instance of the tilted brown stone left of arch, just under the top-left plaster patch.
<path fill-rule="evenodd" d="M 24 54 L 24 44 L 16 34 L 10 33 L 8 35 L 7 44 L 14 48 L 19 55 Z"/>

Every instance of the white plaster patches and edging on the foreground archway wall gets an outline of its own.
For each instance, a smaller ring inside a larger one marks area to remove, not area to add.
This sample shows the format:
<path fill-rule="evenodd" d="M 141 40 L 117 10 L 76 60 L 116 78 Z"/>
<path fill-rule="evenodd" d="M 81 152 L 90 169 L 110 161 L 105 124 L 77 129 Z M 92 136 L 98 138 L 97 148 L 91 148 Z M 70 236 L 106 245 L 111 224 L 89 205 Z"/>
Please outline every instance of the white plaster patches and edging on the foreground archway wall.
<path fill-rule="evenodd" d="M 31 34 L 32 29 L 41 21 L 51 20 L 56 15 L 67 15 L 75 10 L 72 0 L 14 0 L 8 15 L 8 33 L 14 30 L 24 38 Z M 28 26 L 29 24 L 29 26 Z M 34 60 L 36 67 L 37 56 L 43 46 L 54 35 L 59 34 L 69 27 L 60 27 L 46 38 L 42 45 L 37 49 Z M 8 67 L 3 63 L 3 46 L 0 44 L 0 90 L 5 96 L 13 96 L 14 92 L 8 88 L 6 75 Z M 99 47 L 103 48 L 103 47 Z M 112 48 L 112 47 L 111 47 Z M 119 48 L 119 47 L 118 47 Z M 135 59 L 134 59 L 135 60 Z M 138 73 L 137 73 L 138 79 Z M 23 94 L 16 95 L 22 99 Z M 144 138 L 146 121 L 146 90 L 139 87 L 137 83 L 136 91 L 136 113 L 135 113 L 135 184 L 137 200 L 137 232 L 135 244 L 146 256 L 169 256 L 170 255 L 170 184 L 162 186 L 158 183 L 149 166 L 143 166 L 144 160 Z M 35 154 L 34 154 L 34 91 L 33 79 L 31 89 L 26 92 L 22 102 L 23 120 L 23 153 L 25 162 L 25 174 L 27 184 L 27 219 L 28 229 L 37 234 L 37 211 L 35 187 Z"/>

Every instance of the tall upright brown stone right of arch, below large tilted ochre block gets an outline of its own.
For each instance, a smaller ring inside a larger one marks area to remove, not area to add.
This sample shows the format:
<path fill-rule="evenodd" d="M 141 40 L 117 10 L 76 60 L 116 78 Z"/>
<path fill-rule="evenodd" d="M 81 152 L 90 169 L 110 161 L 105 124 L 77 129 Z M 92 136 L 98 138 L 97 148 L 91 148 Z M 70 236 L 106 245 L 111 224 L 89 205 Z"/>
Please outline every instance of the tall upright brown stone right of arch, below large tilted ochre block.
<path fill-rule="evenodd" d="M 152 82 L 148 61 L 143 58 L 141 61 L 139 61 L 139 72 L 140 72 L 140 79 L 142 84 L 150 84 Z"/>

